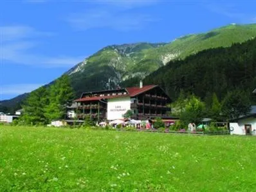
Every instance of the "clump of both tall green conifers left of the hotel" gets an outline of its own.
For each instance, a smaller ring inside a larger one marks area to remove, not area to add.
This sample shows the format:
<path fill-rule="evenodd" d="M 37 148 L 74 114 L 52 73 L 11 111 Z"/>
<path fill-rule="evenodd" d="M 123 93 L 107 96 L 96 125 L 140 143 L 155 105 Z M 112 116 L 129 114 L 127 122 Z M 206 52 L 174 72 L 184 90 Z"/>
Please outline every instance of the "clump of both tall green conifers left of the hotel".
<path fill-rule="evenodd" d="M 51 120 L 66 117 L 66 107 L 74 99 L 68 75 L 63 75 L 50 86 L 41 86 L 30 93 L 22 104 L 23 114 L 17 124 L 35 125 L 48 124 Z"/>

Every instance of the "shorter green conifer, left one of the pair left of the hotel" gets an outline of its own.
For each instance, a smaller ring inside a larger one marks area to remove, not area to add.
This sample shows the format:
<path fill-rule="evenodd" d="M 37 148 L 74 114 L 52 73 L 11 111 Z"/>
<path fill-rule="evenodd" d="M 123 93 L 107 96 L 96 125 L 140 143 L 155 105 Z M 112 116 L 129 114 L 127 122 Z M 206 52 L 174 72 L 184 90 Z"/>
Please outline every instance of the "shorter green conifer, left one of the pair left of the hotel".
<path fill-rule="evenodd" d="M 19 118 L 21 124 L 45 124 L 46 117 L 44 116 L 44 107 L 47 106 L 47 90 L 44 86 L 30 93 L 30 96 L 25 100 L 23 115 Z"/>

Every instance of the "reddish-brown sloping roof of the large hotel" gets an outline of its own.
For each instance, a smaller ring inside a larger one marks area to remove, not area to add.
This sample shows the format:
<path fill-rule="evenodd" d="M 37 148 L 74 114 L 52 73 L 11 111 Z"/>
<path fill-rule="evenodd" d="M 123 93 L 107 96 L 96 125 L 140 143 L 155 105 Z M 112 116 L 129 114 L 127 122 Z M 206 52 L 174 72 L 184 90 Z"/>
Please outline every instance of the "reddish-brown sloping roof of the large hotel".
<path fill-rule="evenodd" d="M 94 101 L 94 100 L 102 100 L 102 99 L 113 99 L 113 98 L 120 98 L 120 97 L 134 97 L 136 95 L 140 95 L 140 93 L 143 93 L 143 92 L 147 92 L 149 90 L 151 90 L 152 88 L 155 88 L 157 87 L 158 85 L 155 85 L 155 84 L 151 84 L 151 85 L 145 85 L 143 86 L 142 88 L 140 87 L 129 87 L 129 88 L 126 88 L 125 90 L 122 89 L 123 91 L 126 91 L 127 94 L 126 95 L 105 95 L 105 96 L 98 96 L 98 97 L 82 97 L 80 99 L 76 99 L 74 100 L 75 102 L 78 102 L 78 101 Z M 109 92 L 113 92 L 114 90 L 109 90 Z M 116 90 L 116 91 L 120 91 L 120 90 Z M 89 92 L 89 93 L 102 93 L 102 92 L 107 92 L 107 91 L 100 91 L 100 92 Z"/>

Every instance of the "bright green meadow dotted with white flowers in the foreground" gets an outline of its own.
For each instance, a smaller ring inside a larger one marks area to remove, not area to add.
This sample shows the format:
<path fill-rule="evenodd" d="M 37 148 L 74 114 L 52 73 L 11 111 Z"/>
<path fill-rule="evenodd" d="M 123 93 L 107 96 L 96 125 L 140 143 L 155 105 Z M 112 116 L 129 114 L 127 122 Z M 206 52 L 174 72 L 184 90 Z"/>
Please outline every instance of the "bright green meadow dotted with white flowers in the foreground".
<path fill-rule="evenodd" d="M 0 191 L 256 191 L 256 138 L 0 126 Z"/>

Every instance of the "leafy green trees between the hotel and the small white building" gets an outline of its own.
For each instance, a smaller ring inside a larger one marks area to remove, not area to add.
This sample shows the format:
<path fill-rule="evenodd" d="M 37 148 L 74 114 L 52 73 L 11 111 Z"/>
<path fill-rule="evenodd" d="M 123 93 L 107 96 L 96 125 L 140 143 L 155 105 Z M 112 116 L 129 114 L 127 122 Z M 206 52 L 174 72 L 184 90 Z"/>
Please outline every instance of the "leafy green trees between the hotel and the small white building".
<path fill-rule="evenodd" d="M 181 91 L 179 98 L 171 104 L 172 116 L 179 116 L 184 125 L 191 122 L 201 123 L 203 118 L 212 118 L 215 122 L 228 122 L 251 111 L 251 102 L 246 92 L 233 90 L 228 92 L 220 102 L 216 93 L 208 100 L 208 104 L 196 95 L 186 95 Z"/>

